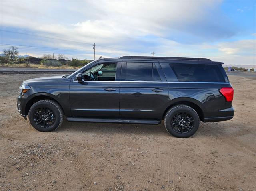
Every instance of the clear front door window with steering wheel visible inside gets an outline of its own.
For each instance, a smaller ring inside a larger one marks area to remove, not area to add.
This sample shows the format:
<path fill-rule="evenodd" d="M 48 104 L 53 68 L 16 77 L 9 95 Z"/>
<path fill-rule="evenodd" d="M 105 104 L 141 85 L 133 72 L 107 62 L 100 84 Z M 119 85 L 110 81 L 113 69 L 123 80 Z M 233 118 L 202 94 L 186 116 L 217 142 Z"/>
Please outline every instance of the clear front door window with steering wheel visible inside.
<path fill-rule="evenodd" d="M 101 63 L 83 73 L 85 81 L 115 81 L 116 63 Z"/>

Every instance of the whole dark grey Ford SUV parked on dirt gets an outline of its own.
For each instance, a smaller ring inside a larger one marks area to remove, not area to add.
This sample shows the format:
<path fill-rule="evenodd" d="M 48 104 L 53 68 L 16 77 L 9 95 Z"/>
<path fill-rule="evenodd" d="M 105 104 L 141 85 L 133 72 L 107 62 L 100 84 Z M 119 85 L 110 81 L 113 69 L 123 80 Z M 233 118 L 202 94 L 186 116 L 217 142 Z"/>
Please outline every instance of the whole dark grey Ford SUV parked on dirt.
<path fill-rule="evenodd" d="M 18 112 L 39 131 L 76 122 L 160 124 L 189 137 L 199 122 L 230 120 L 233 88 L 222 62 L 123 56 L 92 61 L 65 76 L 22 83 Z"/>

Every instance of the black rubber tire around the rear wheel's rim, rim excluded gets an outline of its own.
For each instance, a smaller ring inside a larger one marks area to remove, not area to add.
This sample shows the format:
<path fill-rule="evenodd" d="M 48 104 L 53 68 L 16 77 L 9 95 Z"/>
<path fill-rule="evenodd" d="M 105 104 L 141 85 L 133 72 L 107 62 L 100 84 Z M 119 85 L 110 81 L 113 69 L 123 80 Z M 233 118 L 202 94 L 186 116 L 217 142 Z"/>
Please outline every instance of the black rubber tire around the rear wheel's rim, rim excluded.
<path fill-rule="evenodd" d="M 172 117 L 177 113 L 177 112 L 187 112 L 189 113 L 193 118 L 194 118 L 194 127 L 190 132 L 180 134 L 175 132 L 172 127 L 171 127 L 171 120 Z M 186 138 L 192 136 L 199 127 L 199 116 L 196 113 L 194 109 L 192 109 L 189 106 L 174 106 L 173 108 L 170 109 L 170 111 L 166 114 L 165 120 L 164 120 L 164 125 L 166 127 L 166 130 L 173 136 L 179 137 L 179 138 Z"/>

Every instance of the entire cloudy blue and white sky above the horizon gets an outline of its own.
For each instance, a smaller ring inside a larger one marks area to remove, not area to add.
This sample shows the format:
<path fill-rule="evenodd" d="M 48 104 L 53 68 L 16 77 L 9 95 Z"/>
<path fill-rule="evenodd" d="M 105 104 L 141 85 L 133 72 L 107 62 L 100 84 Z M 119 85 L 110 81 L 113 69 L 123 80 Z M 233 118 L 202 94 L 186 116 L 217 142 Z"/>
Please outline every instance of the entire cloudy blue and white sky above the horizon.
<path fill-rule="evenodd" d="M 0 0 L 0 51 L 93 59 L 207 57 L 256 65 L 256 1 Z"/>

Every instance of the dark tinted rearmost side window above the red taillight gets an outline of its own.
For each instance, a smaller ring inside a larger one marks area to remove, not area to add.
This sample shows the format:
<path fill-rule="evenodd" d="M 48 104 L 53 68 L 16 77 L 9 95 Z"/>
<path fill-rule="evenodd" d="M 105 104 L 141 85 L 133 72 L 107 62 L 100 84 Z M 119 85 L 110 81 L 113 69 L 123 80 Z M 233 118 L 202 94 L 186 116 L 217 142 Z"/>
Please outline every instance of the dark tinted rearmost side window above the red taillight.
<path fill-rule="evenodd" d="M 170 67 L 181 82 L 225 82 L 217 65 L 170 63 Z"/>

